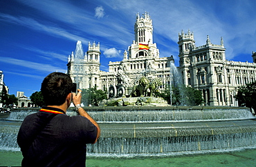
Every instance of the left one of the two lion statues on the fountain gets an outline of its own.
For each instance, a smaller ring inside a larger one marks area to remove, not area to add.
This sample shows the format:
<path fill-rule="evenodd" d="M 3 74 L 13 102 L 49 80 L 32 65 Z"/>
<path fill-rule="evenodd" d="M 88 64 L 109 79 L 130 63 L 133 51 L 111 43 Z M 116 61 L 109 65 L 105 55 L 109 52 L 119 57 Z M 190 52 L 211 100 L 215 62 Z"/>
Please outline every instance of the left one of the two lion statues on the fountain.
<path fill-rule="evenodd" d="M 149 80 L 146 77 L 141 77 L 138 84 L 132 87 L 130 97 L 144 97 L 147 88 L 149 88 Z"/>

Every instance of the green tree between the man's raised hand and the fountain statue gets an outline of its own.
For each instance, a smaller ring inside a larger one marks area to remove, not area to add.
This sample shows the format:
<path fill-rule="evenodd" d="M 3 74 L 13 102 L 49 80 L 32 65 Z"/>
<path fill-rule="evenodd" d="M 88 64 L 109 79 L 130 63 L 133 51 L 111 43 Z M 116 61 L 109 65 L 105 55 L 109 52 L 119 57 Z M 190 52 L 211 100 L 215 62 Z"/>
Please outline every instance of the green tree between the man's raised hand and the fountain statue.
<path fill-rule="evenodd" d="M 107 99 L 107 90 L 98 90 L 97 87 L 82 90 L 82 103 L 84 106 L 89 104 L 99 106 L 100 101 Z"/>

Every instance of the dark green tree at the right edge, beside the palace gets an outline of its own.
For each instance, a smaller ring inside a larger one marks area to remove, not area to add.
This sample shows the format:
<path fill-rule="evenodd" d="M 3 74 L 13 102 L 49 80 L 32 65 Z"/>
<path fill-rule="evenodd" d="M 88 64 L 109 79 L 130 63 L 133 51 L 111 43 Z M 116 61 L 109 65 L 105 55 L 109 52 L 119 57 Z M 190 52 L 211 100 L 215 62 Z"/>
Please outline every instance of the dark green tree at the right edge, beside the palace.
<path fill-rule="evenodd" d="M 237 99 L 239 106 L 253 108 L 256 111 L 256 81 L 240 86 L 235 99 Z"/>

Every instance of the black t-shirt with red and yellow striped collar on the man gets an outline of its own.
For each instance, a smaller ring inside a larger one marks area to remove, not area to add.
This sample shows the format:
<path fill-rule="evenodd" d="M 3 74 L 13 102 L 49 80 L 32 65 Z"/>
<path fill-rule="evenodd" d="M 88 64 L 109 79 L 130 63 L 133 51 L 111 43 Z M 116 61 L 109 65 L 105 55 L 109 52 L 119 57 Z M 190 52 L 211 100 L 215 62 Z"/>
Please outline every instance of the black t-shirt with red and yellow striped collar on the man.
<path fill-rule="evenodd" d="M 42 109 L 47 112 L 28 115 L 19 129 L 21 165 L 85 166 L 86 144 L 95 142 L 96 126 L 85 117 L 69 117 L 57 108 Z"/>

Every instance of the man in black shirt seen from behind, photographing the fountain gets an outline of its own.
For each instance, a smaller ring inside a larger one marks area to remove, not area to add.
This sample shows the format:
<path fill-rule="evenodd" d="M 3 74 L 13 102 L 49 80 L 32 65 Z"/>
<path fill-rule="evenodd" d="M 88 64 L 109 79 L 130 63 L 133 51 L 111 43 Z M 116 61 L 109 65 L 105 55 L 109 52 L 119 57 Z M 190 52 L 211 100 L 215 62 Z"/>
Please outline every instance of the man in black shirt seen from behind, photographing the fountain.
<path fill-rule="evenodd" d="M 22 166 L 85 166 L 86 144 L 100 137 L 100 126 L 80 106 L 82 90 L 71 92 L 71 77 L 53 72 L 42 82 L 44 106 L 28 115 L 19 129 L 17 143 Z M 79 115 L 69 117 L 71 102 Z"/>

